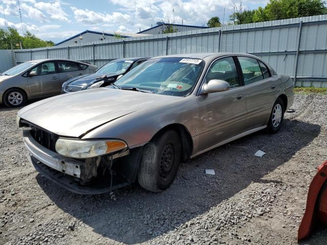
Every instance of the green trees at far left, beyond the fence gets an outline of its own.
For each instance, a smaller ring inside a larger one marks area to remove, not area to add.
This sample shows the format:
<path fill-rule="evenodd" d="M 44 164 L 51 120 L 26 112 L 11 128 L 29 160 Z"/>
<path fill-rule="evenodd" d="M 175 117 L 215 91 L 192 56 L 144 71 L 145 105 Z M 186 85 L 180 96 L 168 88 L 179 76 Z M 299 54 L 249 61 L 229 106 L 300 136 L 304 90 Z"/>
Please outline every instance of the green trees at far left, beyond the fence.
<path fill-rule="evenodd" d="M 36 48 L 55 45 L 53 41 L 43 41 L 29 31 L 27 31 L 22 37 L 14 28 L 8 28 L 8 31 L 5 29 L 0 29 L 1 50 L 9 50 L 11 47 L 13 49 L 20 48 L 20 43 L 22 48 Z"/>

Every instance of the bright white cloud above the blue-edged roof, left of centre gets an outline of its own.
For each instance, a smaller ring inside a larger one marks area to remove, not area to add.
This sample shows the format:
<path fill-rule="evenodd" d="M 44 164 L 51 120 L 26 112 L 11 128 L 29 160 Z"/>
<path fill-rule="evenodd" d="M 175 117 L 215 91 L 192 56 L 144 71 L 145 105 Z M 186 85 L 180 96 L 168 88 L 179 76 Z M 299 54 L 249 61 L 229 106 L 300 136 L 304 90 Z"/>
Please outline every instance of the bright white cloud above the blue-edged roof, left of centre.
<path fill-rule="evenodd" d="M 112 14 L 98 13 L 88 9 L 78 9 L 71 7 L 74 12 L 74 17 L 77 22 L 85 24 L 116 24 L 130 22 L 130 15 L 122 14 L 120 12 L 113 12 Z"/>

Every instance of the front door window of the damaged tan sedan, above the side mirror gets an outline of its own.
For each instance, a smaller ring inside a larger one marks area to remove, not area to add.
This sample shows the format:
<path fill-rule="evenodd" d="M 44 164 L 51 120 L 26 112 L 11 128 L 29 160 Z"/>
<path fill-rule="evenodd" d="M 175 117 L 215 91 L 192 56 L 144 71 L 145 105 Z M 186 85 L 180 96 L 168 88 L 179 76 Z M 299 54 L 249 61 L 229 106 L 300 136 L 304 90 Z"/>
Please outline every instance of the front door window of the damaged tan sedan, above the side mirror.
<path fill-rule="evenodd" d="M 215 61 L 209 68 L 205 80 L 223 80 L 229 83 L 231 88 L 240 86 L 237 68 L 232 57 L 226 57 Z"/>

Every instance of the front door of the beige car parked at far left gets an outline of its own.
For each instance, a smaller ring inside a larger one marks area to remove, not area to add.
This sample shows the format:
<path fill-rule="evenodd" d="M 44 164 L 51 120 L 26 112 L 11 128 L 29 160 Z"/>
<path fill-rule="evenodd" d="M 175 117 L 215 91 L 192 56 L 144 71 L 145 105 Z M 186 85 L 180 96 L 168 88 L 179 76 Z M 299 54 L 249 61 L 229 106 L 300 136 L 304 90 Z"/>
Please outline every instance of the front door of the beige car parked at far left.
<path fill-rule="evenodd" d="M 31 96 L 49 96 L 60 93 L 60 89 L 58 90 L 58 87 L 60 88 L 59 75 L 55 61 L 43 62 L 28 73 L 30 74 L 31 71 L 36 72 L 36 76 L 28 76 Z"/>

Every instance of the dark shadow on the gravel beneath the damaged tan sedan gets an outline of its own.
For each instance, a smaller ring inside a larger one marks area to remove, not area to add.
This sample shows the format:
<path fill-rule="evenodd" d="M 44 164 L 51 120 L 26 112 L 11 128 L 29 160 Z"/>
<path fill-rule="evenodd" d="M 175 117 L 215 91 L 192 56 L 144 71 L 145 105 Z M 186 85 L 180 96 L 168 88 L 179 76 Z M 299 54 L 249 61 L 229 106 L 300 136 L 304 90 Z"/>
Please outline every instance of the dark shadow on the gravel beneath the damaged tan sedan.
<path fill-rule="evenodd" d="M 116 201 L 111 201 L 109 194 L 74 194 L 40 175 L 36 179 L 64 212 L 104 237 L 133 244 L 178 228 L 251 182 L 279 183 L 263 177 L 291 159 L 319 132 L 318 125 L 285 120 L 276 134 L 256 132 L 183 163 L 173 185 L 162 193 L 151 193 L 133 184 L 116 190 Z M 260 149 L 266 155 L 255 157 Z M 214 169 L 216 175 L 205 175 L 204 169 L 208 168 Z"/>

